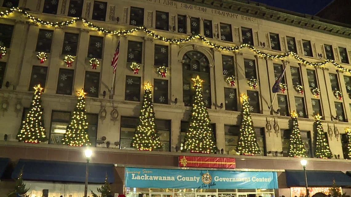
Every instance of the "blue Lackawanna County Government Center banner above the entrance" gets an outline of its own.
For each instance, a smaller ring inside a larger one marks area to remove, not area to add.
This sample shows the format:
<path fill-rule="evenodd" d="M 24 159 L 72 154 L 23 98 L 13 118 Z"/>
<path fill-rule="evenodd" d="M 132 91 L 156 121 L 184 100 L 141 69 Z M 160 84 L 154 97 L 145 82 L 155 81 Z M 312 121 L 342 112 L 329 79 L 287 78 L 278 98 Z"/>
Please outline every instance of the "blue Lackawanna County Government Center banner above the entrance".
<path fill-rule="evenodd" d="M 277 189 L 277 172 L 126 168 L 129 188 Z"/>

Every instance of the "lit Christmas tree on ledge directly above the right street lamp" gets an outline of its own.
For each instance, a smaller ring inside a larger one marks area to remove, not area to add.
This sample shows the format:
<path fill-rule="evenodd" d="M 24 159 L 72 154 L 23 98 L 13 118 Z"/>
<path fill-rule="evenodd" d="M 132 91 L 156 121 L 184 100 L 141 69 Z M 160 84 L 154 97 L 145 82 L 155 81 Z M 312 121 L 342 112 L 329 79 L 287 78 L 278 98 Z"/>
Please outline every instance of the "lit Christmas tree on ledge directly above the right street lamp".
<path fill-rule="evenodd" d="M 301 139 L 297 116 L 295 111 L 291 113 L 292 130 L 290 134 L 289 157 L 307 157 L 305 145 Z"/>

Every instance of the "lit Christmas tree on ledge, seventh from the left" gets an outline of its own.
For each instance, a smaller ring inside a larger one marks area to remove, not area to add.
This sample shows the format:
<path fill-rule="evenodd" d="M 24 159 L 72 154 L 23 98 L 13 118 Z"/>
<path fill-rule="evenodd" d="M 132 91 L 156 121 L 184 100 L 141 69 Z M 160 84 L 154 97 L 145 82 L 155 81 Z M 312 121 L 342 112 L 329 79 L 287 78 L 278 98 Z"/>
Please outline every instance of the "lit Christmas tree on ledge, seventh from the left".
<path fill-rule="evenodd" d="M 320 118 L 322 118 L 322 116 L 320 116 L 319 114 L 317 114 L 316 116 L 314 116 L 316 118 L 316 124 L 317 124 L 317 131 L 315 133 L 316 136 L 316 157 L 317 158 L 332 158 L 333 154 L 331 153 L 331 150 L 329 148 L 329 144 L 327 142 L 327 140 L 325 139 L 325 135 L 324 135 L 324 130 L 323 130 L 323 126 L 322 126 L 322 122 L 320 121 Z"/>

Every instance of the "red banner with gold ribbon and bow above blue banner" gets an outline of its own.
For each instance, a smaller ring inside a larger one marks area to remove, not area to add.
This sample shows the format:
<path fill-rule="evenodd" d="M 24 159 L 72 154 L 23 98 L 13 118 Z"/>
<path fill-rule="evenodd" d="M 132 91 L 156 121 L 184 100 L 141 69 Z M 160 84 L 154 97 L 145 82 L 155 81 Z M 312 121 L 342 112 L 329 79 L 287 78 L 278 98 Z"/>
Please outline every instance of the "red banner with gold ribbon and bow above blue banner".
<path fill-rule="evenodd" d="M 179 167 L 235 168 L 235 158 L 179 156 Z"/>

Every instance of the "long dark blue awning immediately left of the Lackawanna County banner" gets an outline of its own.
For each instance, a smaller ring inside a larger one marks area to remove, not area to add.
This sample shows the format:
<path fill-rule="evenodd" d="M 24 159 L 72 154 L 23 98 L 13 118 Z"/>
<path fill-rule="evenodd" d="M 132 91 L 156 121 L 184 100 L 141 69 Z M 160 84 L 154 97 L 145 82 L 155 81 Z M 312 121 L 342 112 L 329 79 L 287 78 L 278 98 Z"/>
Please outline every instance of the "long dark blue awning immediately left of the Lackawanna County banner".
<path fill-rule="evenodd" d="M 25 180 L 85 182 L 86 163 L 20 159 L 12 178 L 18 178 L 22 168 Z M 113 172 L 113 164 L 89 163 L 88 182 L 104 183 L 107 175 L 107 182 L 113 183 Z"/>

